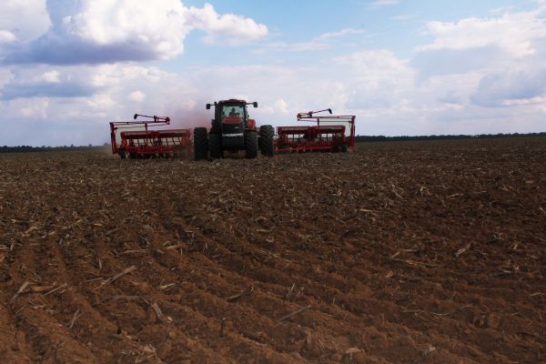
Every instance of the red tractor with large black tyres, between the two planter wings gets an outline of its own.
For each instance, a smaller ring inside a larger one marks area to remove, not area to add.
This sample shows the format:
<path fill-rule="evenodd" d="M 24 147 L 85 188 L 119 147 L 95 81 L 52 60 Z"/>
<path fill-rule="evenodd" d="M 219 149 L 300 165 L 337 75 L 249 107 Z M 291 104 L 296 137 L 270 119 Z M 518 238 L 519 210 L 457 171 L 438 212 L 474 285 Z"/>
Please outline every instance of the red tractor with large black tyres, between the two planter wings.
<path fill-rule="evenodd" d="M 263 156 L 273 157 L 275 146 L 273 126 L 256 127 L 256 120 L 248 116 L 248 105 L 258 107 L 257 102 L 231 98 L 214 104 L 207 104 L 207 110 L 215 107 L 212 126 L 194 129 L 194 157 L 196 160 L 224 157 L 224 150 L 244 150 L 247 158 L 258 157 L 258 149 Z"/>

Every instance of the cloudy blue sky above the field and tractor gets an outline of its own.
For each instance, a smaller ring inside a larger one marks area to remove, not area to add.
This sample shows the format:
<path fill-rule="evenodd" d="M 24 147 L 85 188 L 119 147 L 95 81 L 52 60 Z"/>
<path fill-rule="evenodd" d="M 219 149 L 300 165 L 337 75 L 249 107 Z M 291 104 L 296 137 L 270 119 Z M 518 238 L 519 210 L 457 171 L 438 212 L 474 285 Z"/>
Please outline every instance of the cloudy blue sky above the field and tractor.
<path fill-rule="evenodd" d="M 258 125 L 544 132 L 546 1 L 0 2 L 0 146 L 101 145 L 134 113 L 207 126 L 233 97 Z"/>

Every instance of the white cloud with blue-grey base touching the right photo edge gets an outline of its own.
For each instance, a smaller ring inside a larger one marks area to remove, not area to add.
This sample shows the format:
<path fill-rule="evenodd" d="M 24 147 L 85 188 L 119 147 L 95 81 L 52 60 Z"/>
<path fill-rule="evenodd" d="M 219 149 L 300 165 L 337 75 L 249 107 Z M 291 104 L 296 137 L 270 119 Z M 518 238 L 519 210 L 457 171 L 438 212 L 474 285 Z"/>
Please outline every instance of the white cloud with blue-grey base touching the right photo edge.
<path fill-rule="evenodd" d="M 459 103 L 473 106 L 536 103 L 544 95 L 545 13 L 546 6 L 539 5 L 532 11 L 503 9 L 501 15 L 486 18 L 430 22 L 427 29 L 433 40 L 417 47 L 411 60 L 420 85 L 430 86 L 435 79 L 437 85 L 457 89 Z"/>

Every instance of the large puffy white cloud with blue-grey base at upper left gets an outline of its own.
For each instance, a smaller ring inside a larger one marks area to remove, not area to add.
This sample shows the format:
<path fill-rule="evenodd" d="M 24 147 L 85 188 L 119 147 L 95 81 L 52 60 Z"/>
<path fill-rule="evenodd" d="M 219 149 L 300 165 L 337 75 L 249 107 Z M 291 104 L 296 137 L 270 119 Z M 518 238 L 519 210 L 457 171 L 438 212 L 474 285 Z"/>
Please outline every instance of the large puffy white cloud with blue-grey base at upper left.
<path fill-rule="evenodd" d="M 56 0 L 47 3 L 47 11 L 53 22 L 49 31 L 32 42 L 8 48 L 5 63 L 161 60 L 180 55 L 187 34 L 195 29 L 206 32 L 208 43 L 227 45 L 248 43 L 268 34 L 266 25 L 248 17 L 218 15 L 212 5 L 187 7 L 179 0 Z M 14 28 L 8 25 L 5 32 Z M 2 38 L 9 40 L 8 33 L 0 34 Z"/>

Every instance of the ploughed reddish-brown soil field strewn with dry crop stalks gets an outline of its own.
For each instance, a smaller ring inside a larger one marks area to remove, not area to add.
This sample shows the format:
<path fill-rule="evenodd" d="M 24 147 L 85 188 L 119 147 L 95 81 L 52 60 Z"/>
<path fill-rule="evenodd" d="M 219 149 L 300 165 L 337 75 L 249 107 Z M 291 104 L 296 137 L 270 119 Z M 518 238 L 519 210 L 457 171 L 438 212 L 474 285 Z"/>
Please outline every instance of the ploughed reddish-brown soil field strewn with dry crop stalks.
<path fill-rule="evenodd" d="M 0 155 L 1 363 L 546 362 L 546 139 Z"/>

